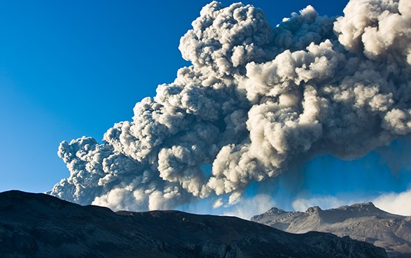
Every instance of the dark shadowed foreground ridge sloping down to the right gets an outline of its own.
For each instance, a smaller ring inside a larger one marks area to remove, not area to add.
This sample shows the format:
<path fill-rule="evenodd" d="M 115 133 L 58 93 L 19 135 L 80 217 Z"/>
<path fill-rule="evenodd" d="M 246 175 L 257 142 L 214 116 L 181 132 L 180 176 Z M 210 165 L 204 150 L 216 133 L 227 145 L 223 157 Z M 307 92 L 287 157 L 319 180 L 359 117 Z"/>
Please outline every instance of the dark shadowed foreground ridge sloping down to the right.
<path fill-rule="evenodd" d="M 113 213 L 45 194 L 0 193 L 0 257 L 387 258 L 333 234 L 289 234 L 237 217 Z"/>

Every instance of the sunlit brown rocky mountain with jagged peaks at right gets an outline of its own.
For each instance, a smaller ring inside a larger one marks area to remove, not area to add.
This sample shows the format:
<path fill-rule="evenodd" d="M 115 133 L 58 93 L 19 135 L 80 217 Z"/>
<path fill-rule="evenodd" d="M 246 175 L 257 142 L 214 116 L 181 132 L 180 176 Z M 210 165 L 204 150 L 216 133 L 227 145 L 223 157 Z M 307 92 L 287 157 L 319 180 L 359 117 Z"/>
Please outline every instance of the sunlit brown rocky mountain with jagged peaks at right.
<path fill-rule="evenodd" d="M 312 207 L 305 213 L 272 208 L 251 220 L 291 233 L 321 231 L 349 236 L 384 248 L 389 257 L 411 257 L 411 217 L 387 213 L 373 203 L 331 210 Z"/>

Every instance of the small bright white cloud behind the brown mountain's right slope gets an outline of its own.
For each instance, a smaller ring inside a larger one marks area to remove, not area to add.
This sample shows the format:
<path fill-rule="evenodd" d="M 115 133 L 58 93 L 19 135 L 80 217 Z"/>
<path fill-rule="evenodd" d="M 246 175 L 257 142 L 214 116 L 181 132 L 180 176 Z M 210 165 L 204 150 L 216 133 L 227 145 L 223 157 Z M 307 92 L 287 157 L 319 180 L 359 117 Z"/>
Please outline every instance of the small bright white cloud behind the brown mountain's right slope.
<path fill-rule="evenodd" d="M 411 216 L 411 189 L 401 193 L 382 194 L 373 203 L 389 213 Z"/>

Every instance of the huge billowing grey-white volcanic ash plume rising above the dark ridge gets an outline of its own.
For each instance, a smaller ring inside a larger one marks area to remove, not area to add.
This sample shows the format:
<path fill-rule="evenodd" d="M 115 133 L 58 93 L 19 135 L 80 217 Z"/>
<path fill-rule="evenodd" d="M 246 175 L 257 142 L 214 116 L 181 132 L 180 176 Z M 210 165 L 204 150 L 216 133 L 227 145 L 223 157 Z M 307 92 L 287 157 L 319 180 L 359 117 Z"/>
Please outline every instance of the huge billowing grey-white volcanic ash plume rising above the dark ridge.
<path fill-rule="evenodd" d="M 234 203 L 301 157 L 359 157 L 411 131 L 409 0 L 352 0 L 338 18 L 308 6 L 274 28 L 213 1 L 192 26 L 180 41 L 192 66 L 103 144 L 62 142 L 71 175 L 50 194 L 133 210 Z"/>

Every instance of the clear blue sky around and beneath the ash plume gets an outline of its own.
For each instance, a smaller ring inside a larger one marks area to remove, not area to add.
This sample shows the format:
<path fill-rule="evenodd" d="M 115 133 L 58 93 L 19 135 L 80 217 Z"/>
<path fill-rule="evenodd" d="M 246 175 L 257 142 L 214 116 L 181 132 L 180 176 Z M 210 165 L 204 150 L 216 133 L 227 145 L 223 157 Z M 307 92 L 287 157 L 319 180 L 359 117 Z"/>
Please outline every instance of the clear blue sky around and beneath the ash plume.
<path fill-rule="evenodd" d="M 131 120 L 136 102 L 189 65 L 178 50 L 180 37 L 206 3 L 0 0 L 0 192 L 51 189 L 69 175 L 57 157 L 61 141 L 101 141 L 115 122 Z M 308 4 L 320 15 L 342 15 L 347 1 L 243 3 L 262 8 L 275 26 Z M 384 159 L 407 146 L 398 141 L 355 161 L 316 157 L 297 181 L 312 196 L 403 192 L 411 182 L 408 160 L 393 174 Z M 319 178 L 320 170 L 329 173 Z M 281 180 L 287 188 L 296 179 Z M 345 180 L 354 183 L 340 183 Z"/>

